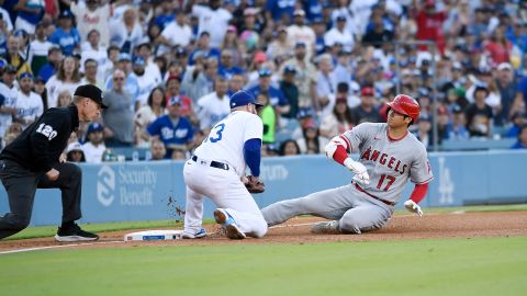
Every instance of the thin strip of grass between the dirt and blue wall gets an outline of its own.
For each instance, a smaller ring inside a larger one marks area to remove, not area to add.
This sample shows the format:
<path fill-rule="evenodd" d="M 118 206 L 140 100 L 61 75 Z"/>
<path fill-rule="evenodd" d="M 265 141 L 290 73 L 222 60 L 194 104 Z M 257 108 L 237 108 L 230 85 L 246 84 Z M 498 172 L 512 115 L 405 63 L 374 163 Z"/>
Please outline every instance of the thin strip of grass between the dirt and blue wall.
<path fill-rule="evenodd" d="M 493 205 L 493 206 L 466 206 L 466 207 L 444 207 L 444 208 L 426 208 L 426 213 L 453 213 L 463 210 L 467 213 L 472 212 L 502 212 L 502 210 L 527 210 L 527 204 L 517 204 L 517 205 Z M 408 212 L 401 209 L 396 210 L 396 215 L 404 214 L 407 215 Z M 204 224 L 213 223 L 213 219 L 205 219 Z M 139 228 L 182 228 L 181 223 L 176 223 L 175 220 L 157 220 L 157 221 L 123 221 L 123 223 L 106 223 L 106 224 L 90 224 L 82 226 L 83 229 L 94 232 L 103 231 L 116 231 L 116 230 L 128 230 L 128 229 L 139 229 Z M 40 226 L 40 227 L 30 227 L 23 231 L 8 238 L 7 240 L 13 239 L 29 239 L 29 238 L 40 238 L 40 237 L 53 237 L 57 231 L 57 226 Z"/>

